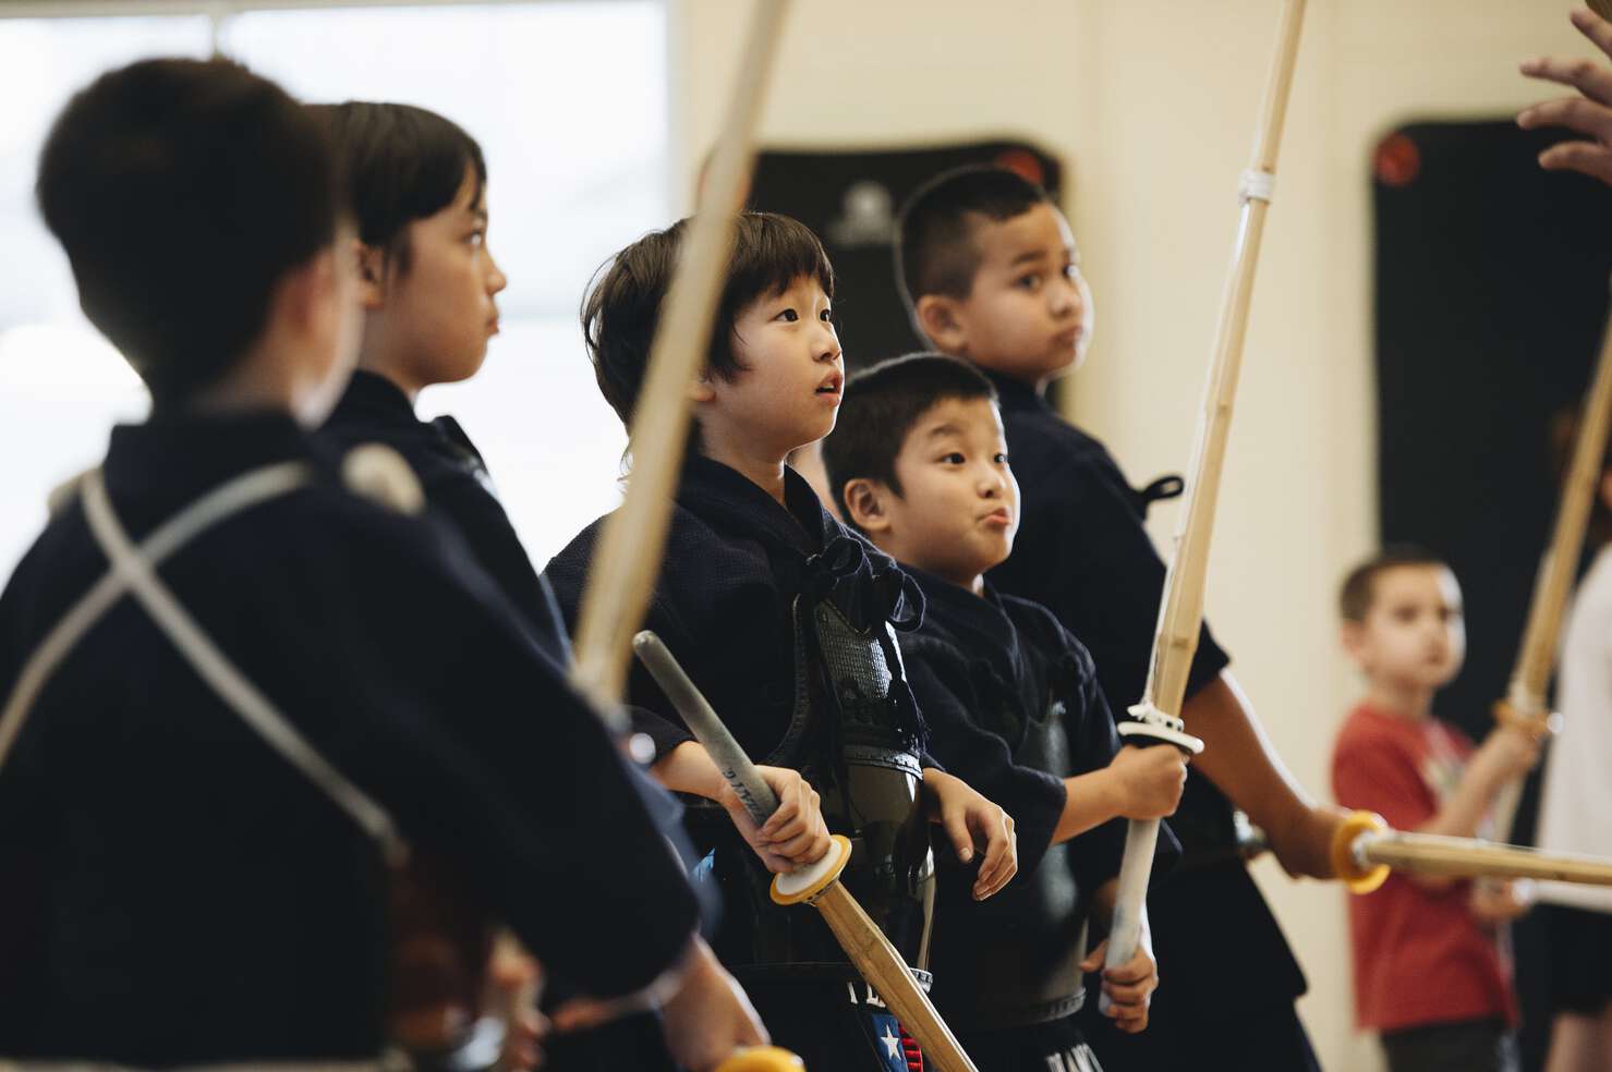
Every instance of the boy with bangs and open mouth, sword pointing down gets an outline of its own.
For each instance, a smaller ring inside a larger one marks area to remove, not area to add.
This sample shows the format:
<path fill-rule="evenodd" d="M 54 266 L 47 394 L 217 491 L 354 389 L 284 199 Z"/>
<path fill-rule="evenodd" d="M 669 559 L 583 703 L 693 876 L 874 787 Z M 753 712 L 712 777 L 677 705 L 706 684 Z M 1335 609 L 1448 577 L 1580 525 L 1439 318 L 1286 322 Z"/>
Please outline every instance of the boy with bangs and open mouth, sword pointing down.
<path fill-rule="evenodd" d="M 584 305 L 600 388 L 629 427 L 685 235 L 687 221 L 617 253 Z M 653 774 L 727 804 L 727 814 L 692 806 L 688 827 L 709 850 L 698 874 L 727 904 L 714 946 L 774 1038 L 812 1069 L 888 1069 L 906 1046 L 898 1025 L 816 914 L 772 904 L 767 867 L 819 859 L 827 819 L 856 841 L 846 888 L 924 969 L 935 882 L 927 821 L 945 825 L 964 862 L 978 862 L 977 898 L 1012 877 L 1012 821 L 924 751 L 895 640 L 917 624 L 916 587 L 785 466 L 833 429 L 840 406 L 832 297 L 833 271 L 811 231 L 767 213 L 738 218 L 706 371 L 690 388 L 693 442 L 646 622 L 816 829 L 787 840 L 771 822 L 758 832 L 642 669 L 629 700 L 653 743 Z M 567 622 L 598 534 L 600 522 L 588 526 L 548 564 Z"/>

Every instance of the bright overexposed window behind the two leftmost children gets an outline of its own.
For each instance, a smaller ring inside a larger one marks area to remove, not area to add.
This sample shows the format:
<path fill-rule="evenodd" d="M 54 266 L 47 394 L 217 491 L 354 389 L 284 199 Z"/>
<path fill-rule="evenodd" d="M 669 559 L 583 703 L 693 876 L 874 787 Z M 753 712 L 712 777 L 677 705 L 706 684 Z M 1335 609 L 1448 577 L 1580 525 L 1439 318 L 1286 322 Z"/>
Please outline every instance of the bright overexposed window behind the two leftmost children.
<path fill-rule="evenodd" d="M 210 32 L 200 16 L 0 19 L 0 93 L 40 102 L 26 121 L 0 118 L 0 572 L 37 534 L 48 488 L 98 459 L 113 419 L 145 409 L 37 221 L 39 143 L 97 71 L 203 55 Z M 482 143 L 488 243 L 509 277 L 503 332 L 474 380 L 427 390 L 421 413 L 453 413 L 476 438 L 538 566 L 619 501 L 625 435 L 577 308 L 611 251 L 667 222 L 664 39 L 650 0 L 239 10 L 219 27 L 229 55 L 303 100 L 416 103 Z M 26 66 L 8 63 L 13 48 Z"/>

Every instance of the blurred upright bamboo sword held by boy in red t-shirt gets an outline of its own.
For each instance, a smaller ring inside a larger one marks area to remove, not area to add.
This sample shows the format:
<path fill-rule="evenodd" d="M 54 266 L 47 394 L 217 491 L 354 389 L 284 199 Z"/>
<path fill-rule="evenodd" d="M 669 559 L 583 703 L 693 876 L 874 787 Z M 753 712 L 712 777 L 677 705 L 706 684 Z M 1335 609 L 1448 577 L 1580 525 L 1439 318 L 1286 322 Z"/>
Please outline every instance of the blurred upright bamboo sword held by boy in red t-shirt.
<path fill-rule="evenodd" d="M 1494 721 L 1515 725 L 1535 738 L 1556 732 L 1559 716 L 1546 708 L 1546 690 L 1556 669 L 1557 638 L 1562 617 L 1567 613 L 1567 596 L 1578 574 L 1578 556 L 1585 546 L 1585 527 L 1601 485 L 1601 469 L 1607 450 L 1607 429 L 1612 427 L 1612 319 L 1601 340 L 1601 358 L 1596 379 L 1585 398 L 1583 418 L 1578 422 L 1578 442 L 1573 459 L 1562 482 L 1562 505 L 1556 513 L 1556 532 L 1551 546 L 1539 561 L 1539 575 L 1533 587 L 1533 603 L 1528 606 L 1528 625 L 1522 634 L 1522 650 L 1517 653 L 1517 669 L 1512 671 L 1506 698 L 1494 704 Z M 1522 780 L 1515 779 L 1494 798 L 1494 837 L 1510 838 L 1512 819 L 1522 800 Z"/>

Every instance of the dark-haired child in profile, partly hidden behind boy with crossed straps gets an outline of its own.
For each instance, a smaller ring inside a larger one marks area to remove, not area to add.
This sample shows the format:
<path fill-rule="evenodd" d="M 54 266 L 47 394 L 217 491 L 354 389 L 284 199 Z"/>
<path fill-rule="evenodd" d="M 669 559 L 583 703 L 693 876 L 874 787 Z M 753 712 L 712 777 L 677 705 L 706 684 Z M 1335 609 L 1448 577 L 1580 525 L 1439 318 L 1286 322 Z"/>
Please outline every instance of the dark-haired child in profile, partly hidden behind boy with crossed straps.
<path fill-rule="evenodd" d="M 521 613 L 534 645 L 553 664 L 567 666 L 571 648 L 548 584 L 532 567 L 476 447 L 453 418 L 427 422 L 414 416 L 419 392 L 474 376 L 498 332 L 496 295 L 506 280 L 487 245 L 482 150 L 455 123 L 424 108 L 348 102 L 319 111 L 329 116 L 358 224 L 364 308 L 358 371 L 324 435 L 342 447 L 379 442 L 395 448 L 419 476 L 427 508 L 456 530 L 474 564 Z M 532 717 L 543 717 L 542 708 Z M 677 804 L 646 779 L 638 788 L 663 833 L 674 832 Z M 611 922 L 579 919 L 577 925 Z M 443 951 L 440 943 L 435 948 Z M 659 1016 L 638 1012 L 556 1035 L 543 1043 L 543 1067 L 669 1070 L 675 1062 L 706 1069 L 735 1046 L 764 1041 L 743 993 L 698 940 L 690 966 L 682 990 L 664 1006 L 664 1030 Z M 577 996 L 566 979 L 548 979 L 550 1003 Z M 530 1024 L 532 1012 L 517 1016 Z M 506 1057 L 509 1049 L 517 1064 L 535 1057 L 526 1030 L 511 1038 L 516 1045 L 506 1040 Z"/>

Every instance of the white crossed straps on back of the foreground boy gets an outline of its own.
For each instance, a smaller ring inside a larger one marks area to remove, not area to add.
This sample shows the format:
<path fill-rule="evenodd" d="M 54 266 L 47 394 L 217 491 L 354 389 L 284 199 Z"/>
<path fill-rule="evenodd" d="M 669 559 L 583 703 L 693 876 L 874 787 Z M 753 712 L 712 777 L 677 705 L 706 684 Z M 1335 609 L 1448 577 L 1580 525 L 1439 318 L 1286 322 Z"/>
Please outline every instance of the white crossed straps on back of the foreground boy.
<path fill-rule="evenodd" d="M 111 567 L 47 634 L 18 675 L 5 709 L 0 711 L 0 767 L 5 766 L 27 713 L 50 675 L 124 595 L 150 614 L 156 627 L 172 642 L 179 654 L 195 669 L 219 700 L 251 727 L 274 751 L 322 790 L 337 806 L 369 833 L 388 862 L 408 856 L 392 816 L 368 793 L 353 785 L 340 771 L 314 750 L 292 722 L 219 651 L 200 624 L 156 575 L 156 567 L 179 548 L 226 517 L 306 485 L 308 466 L 287 461 L 245 472 L 190 503 L 169 517 L 139 546 L 129 542 L 106 495 L 100 469 L 79 480 L 79 498 L 90 532 Z"/>

